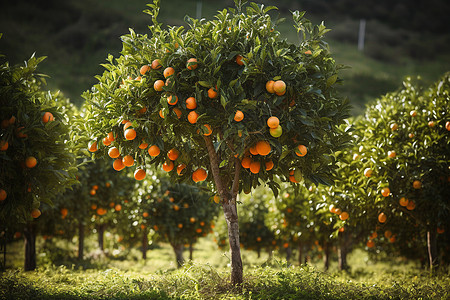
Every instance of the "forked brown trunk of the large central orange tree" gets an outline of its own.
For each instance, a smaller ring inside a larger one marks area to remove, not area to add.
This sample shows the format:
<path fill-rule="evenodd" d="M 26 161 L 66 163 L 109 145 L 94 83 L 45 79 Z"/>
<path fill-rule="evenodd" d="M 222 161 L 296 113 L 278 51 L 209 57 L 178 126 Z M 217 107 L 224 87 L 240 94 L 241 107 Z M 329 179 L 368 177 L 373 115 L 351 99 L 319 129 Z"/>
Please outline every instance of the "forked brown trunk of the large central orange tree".
<path fill-rule="evenodd" d="M 222 209 L 228 226 L 228 242 L 230 244 L 231 255 L 231 284 L 240 285 L 243 282 L 243 266 L 241 259 L 241 246 L 239 243 L 239 223 L 237 214 L 237 194 L 239 191 L 239 176 L 241 171 L 241 162 L 238 158 L 234 160 L 234 179 L 231 189 L 228 188 L 223 178 L 220 176 L 219 158 L 212 143 L 210 136 L 204 136 L 205 144 L 208 149 L 211 173 L 213 175 L 216 189 L 222 199 Z"/>

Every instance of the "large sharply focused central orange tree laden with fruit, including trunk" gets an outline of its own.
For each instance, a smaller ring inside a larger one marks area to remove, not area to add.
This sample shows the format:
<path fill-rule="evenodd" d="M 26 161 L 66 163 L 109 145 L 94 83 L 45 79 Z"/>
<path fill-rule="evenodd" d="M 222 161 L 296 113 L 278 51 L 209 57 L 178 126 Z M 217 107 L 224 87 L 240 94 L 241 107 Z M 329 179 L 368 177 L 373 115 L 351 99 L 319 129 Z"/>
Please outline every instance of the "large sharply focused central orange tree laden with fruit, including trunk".
<path fill-rule="evenodd" d="M 276 30 L 274 7 L 240 1 L 214 20 L 186 17 L 187 29 L 163 29 L 159 1 L 149 7 L 150 36 L 123 36 L 122 56 L 109 56 L 84 94 L 90 147 L 105 156 L 100 141 L 111 132 L 111 146 L 137 168 L 162 165 L 172 180 L 210 182 L 228 225 L 231 282 L 239 284 L 238 193 L 268 182 L 277 195 L 275 177 L 331 184 L 333 152 L 345 147 L 337 125 L 349 106 L 335 91 L 328 30 L 296 11 L 295 45 Z"/>

